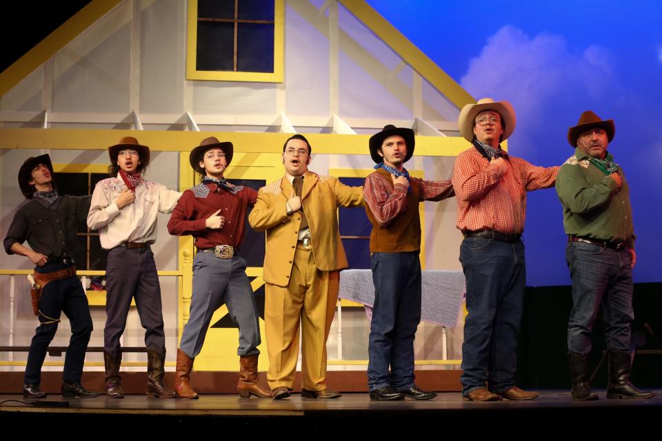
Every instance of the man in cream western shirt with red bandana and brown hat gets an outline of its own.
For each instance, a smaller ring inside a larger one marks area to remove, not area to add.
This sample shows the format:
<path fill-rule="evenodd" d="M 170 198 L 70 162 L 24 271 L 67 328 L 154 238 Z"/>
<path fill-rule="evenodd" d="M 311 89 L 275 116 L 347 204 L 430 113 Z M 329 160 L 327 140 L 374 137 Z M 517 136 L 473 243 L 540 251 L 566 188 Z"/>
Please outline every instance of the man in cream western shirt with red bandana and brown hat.
<path fill-rule="evenodd" d="M 161 286 L 151 245 L 157 239 L 159 212 L 170 213 L 180 192 L 146 181 L 141 173 L 150 162 L 150 149 L 132 136 L 108 147 L 111 178 L 97 183 L 92 194 L 88 227 L 99 230 L 101 247 L 108 249 L 106 266 L 106 327 L 103 360 L 108 398 L 124 398 L 119 376 L 120 338 L 135 298 L 145 331 L 148 356 L 147 395 L 174 398 L 163 384 L 165 333 Z"/>

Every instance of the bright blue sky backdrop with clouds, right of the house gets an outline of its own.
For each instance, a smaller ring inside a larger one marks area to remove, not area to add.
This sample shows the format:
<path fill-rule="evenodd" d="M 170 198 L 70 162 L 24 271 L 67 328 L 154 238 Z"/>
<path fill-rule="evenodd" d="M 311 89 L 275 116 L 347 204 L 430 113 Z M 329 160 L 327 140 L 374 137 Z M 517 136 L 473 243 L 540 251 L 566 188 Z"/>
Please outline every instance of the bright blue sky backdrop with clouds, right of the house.
<path fill-rule="evenodd" d="M 510 153 L 560 165 L 584 110 L 614 119 L 630 184 L 635 282 L 662 282 L 662 0 L 368 0 L 474 98 L 514 105 Z M 568 285 L 561 203 L 528 196 L 527 285 Z M 457 253 L 459 250 L 450 250 Z"/>

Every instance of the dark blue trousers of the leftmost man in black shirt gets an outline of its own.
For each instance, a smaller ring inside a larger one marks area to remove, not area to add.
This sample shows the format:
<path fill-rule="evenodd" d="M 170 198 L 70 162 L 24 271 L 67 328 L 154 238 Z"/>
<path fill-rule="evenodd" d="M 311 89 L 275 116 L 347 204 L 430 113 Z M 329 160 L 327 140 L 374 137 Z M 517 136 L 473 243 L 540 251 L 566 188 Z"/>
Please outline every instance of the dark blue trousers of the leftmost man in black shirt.
<path fill-rule="evenodd" d="M 59 271 L 67 266 L 48 263 L 38 268 L 37 271 L 48 273 Z M 71 339 L 64 359 L 62 378 L 67 382 L 80 382 L 83 375 L 85 352 L 88 349 L 90 334 L 92 334 L 90 307 L 81 280 L 77 276 L 71 276 L 48 283 L 41 293 L 39 311 L 41 311 L 39 314 L 41 325 L 37 327 L 30 343 L 24 381 L 26 384 L 41 382 L 41 365 L 46 358 L 48 345 L 57 331 L 57 322 L 49 322 L 52 321 L 50 319 L 59 319 L 63 312 L 69 318 Z"/>

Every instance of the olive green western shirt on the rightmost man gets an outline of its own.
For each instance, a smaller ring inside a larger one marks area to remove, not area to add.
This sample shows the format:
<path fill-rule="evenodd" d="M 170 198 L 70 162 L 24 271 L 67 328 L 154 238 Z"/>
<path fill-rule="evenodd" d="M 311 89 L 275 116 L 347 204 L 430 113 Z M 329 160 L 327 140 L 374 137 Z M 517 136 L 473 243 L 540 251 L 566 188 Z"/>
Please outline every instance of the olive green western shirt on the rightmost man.
<path fill-rule="evenodd" d="M 556 176 L 556 194 L 563 204 L 565 234 L 625 242 L 634 248 L 630 189 L 619 167 L 621 188 L 576 148 Z"/>

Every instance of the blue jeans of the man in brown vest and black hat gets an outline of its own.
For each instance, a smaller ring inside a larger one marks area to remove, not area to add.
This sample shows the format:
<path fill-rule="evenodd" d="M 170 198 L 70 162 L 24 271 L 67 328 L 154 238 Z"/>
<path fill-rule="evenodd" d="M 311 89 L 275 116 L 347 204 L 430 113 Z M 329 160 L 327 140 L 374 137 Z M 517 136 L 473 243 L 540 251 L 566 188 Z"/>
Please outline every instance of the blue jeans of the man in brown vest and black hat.
<path fill-rule="evenodd" d="M 414 337 L 421 322 L 419 253 L 374 253 L 370 262 L 374 306 L 368 387 L 370 391 L 387 386 L 405 391 L 414 385 Z"/>

